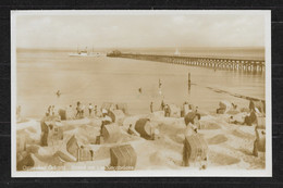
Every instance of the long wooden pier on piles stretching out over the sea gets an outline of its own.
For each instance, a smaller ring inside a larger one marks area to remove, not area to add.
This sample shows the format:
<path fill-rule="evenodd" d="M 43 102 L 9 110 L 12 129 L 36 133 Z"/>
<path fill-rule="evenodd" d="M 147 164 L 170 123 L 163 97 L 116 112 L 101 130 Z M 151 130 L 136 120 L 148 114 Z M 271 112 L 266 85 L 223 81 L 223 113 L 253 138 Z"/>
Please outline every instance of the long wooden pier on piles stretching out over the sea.
<path fill-rule="evenodd" d="M 195 58 L 181 55 L 138 54 L 138 53 L 109 53 L 111 58 L 127 58 L 135 60 L 157 61 L 172 64 L 202 66 L 214 70 L 264 72 L 266 63 L 262 60 L 242 60 L 226 58 Z"/>

